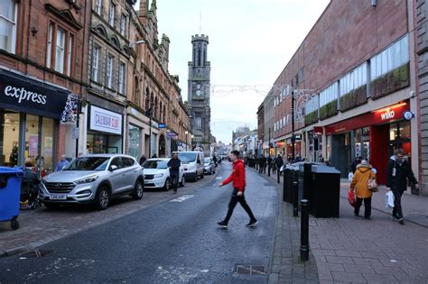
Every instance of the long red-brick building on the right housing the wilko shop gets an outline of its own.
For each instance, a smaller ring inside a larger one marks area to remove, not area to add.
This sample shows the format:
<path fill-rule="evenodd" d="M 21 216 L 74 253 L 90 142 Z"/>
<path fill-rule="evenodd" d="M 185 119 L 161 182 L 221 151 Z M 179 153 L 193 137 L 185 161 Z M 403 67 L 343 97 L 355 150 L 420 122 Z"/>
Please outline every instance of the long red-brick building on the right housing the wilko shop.
<path fill-rule="evenodd" d="M 376 3 L 376 5 L 373 5 Z M 414 1 L 332 0 L 274 82 L 274 142 L 292 155 L 320 154 L 347 177 L 356 156 L 385 183 L 386 162 L 403 148 L 418 167 Z"/>

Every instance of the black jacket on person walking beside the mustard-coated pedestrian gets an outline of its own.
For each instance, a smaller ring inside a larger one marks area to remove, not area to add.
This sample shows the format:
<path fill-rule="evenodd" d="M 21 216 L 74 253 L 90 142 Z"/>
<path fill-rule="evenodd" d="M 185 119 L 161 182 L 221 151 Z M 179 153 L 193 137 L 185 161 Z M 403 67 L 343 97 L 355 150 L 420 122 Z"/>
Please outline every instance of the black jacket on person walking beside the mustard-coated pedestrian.
<path fill-rule="evenodd" d="M 395 177 L 393 177 L 394 168 Z M 414 178 L 414 172 L 412 171 L 409 163 L 404 160 L 400 165 L 395 160 L 395 156 L 392 156 L 386 166 L 386 187 L 395 191 L 403 192 L 407 190 L 407 179 L 409 179 L 414 184 L 417 184 L 417 180 Z"/>

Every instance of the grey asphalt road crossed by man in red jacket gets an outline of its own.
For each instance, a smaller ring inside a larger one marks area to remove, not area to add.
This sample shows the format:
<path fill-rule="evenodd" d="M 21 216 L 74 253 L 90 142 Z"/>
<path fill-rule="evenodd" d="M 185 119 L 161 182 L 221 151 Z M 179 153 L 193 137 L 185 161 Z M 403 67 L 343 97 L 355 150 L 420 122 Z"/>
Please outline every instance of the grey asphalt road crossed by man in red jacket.
<path fill-rule="evenodd" d="M 259 224 L 246 227 L 248 216 L 237 206 L 228 229 L 219 228 L 216 222 L 226 215 L 232 188 L 217 184 L 230 172 L 226 164 L 218 177 L 189 193 L 47 243 L 37 252 L 1 258 L 0 283 L 266 283 L 277 189 L 247 171 L 246 198 Z"/>

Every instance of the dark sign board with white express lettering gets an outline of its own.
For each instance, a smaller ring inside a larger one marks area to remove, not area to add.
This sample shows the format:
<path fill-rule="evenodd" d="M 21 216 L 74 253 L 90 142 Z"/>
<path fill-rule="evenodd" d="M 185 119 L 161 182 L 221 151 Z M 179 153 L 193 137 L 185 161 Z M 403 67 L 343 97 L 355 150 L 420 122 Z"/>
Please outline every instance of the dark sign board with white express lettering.
<path fill-rule="evenodd" d="M 60 119 L 70 92 L 0 69 L 0 108 Z"/>

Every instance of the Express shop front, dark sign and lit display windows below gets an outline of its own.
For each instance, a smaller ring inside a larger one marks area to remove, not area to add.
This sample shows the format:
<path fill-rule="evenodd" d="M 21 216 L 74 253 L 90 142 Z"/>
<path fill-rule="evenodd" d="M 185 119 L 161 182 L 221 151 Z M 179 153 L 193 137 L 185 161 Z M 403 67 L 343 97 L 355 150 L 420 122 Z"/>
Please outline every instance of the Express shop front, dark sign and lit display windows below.
<path fill-rule="evenodd" d="M 59 130 L 74 111 L 70 96 L 66 89 L 0 69 L 0 166 L 31 161 L 42 174 L 53 170 L 63 153 L 59 145 L 67 143 Z"/>

